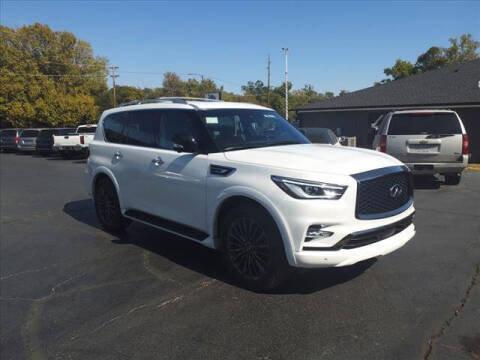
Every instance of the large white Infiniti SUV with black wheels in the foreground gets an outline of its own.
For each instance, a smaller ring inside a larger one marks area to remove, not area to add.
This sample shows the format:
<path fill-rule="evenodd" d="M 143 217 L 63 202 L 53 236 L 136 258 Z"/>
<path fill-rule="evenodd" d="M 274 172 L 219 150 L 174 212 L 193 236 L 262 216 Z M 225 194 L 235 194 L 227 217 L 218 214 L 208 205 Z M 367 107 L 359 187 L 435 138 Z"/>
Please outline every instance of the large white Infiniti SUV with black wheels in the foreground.
<path fill-rule="evenodd" d="M 332 267 L 409 241 L 408 169 L 372 150 L 311 144 L 253 104 L 161 98 L 107 110 L 87 161 L 103 227 L 139 221 L 221 250 L 245 286 L 289 267 Z"/>

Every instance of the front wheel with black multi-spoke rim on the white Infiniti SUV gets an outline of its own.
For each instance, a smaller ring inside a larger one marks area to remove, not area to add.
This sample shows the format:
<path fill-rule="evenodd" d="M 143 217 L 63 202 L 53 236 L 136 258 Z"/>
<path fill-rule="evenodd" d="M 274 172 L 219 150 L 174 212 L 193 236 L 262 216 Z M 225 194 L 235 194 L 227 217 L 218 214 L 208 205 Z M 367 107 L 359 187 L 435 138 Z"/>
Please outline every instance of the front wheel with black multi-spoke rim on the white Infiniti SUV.
<path fill-rule="evenodd" d="M 268 291 L 284 282 L 290 268 L 282 237 L 260 206 L 243 204 L 229 211 L 221 225 L 223 261 L 244 287 Z"/>

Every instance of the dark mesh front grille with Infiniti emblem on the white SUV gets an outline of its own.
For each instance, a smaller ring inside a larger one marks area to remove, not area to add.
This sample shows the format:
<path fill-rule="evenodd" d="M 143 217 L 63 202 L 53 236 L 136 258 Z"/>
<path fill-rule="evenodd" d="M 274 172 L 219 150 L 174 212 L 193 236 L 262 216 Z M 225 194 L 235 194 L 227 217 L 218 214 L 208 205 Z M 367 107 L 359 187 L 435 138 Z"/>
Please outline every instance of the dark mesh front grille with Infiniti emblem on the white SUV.
<path fill-rule="evenodd" d="M 402 166 L 355 174 L 358 219 L 379 219 L 406 210 L 413 198 L 411 175 Z"/>

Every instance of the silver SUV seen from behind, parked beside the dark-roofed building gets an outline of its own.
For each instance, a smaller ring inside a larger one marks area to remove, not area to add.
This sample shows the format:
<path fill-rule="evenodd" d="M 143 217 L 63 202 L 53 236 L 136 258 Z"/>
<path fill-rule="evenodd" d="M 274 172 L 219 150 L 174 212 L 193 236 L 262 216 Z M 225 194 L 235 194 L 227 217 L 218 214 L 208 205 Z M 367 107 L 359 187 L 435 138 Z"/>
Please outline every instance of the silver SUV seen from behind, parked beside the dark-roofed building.
<path fill-rule="evenodd" d="M 457 185 L 468 165 L 468 135 L 451 110 L 404 110 L 382 115 L 373 148 L 403 161 L 413 174 L 445 175 Z"/>

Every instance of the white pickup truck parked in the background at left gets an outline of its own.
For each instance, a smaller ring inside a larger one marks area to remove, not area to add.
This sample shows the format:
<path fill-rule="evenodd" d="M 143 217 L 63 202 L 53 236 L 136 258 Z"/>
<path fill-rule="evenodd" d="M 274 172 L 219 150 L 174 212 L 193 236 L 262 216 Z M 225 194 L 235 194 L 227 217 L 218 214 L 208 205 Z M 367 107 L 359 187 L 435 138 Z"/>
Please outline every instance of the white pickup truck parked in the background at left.
<path fill-rule="evenodd" d="M 74 155 L 88 156 L 88 145 L 95 136 L 97 125 L 80 125 L 73 134 L 54 135 L 53 151 L 66 158 Z"/>

